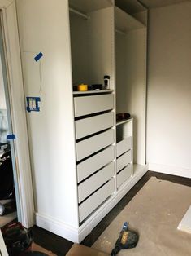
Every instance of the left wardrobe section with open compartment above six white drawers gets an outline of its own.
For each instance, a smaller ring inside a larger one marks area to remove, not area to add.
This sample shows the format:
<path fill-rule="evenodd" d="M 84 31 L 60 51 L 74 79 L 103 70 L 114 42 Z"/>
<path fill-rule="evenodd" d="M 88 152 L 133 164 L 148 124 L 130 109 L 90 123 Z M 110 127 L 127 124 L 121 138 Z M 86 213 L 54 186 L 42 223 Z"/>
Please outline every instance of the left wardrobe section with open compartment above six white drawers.
<path fill-rule="evenodd" d="M 73 92 L 79 223 L 115 193 L 115 93 L 113 7 L 109 1 L 69 1 L 72 86 L 102 84 L 109 90 Z"/>

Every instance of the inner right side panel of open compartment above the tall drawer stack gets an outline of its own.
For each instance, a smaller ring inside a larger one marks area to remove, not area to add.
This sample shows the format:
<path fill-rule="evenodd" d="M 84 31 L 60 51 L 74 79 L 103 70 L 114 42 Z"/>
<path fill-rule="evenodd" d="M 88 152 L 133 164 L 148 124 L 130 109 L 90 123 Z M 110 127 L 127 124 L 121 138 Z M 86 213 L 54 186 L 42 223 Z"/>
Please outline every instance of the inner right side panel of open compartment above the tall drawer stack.
<path fill-rule="evenodd" d="M 111 76 L 114 87 L 113 7 L 89 12 L 89 77 L 90 83 L 103 83 L 103 76 Z"/>

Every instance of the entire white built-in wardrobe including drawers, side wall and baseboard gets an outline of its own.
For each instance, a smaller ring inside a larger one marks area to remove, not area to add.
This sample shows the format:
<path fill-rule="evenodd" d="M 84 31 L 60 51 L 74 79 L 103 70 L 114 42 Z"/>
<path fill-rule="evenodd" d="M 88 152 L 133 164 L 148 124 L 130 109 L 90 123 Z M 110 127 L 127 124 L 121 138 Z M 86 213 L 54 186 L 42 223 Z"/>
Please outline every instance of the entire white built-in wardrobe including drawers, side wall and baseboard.
<path fill-rule="evenodd" d="M 17 6 L 25 93 L 41 95 L 40 113 L 28 113 L 36 219 L 80 242 L 147 170 L 146 28 L 113 1 L 56 2 Z M 41 67 L 32 61 L 38 51 Z M 73 91 L 104 75 L 109 89 Z M 116 113 L 132 118 L 116 122 Z"/>

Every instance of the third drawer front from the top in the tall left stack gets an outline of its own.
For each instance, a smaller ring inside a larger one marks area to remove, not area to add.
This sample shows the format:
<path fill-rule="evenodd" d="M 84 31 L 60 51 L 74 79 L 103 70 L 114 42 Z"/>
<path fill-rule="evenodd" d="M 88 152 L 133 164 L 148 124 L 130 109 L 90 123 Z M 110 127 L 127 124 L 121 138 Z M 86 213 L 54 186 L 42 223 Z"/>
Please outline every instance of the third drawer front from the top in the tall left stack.
<path fill-rule="evenodd" d="M 76 157 L 77 161 L 88 157 L 94 152 L 98 152 L 102 148 L 114 143 L 114 130 L 106 130 L 99 135 L 95 135 L 89 139 L 82 140 L 76 143 Z"/>

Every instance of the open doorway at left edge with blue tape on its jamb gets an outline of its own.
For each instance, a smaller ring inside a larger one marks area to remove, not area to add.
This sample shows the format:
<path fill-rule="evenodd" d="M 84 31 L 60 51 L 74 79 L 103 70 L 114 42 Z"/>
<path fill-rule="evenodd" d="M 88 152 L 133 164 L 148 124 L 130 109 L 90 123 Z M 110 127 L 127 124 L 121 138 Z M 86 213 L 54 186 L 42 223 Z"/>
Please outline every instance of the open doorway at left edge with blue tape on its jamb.
<path fill-rule="evenodd" d="M 2 17 L 2 12 L 1 12 Z M 7 82 L 2 18 L 0 20 L 0 227 L 20 216 L 20 200 L 16 179 L 15 148 L 11 106 Z"/>

